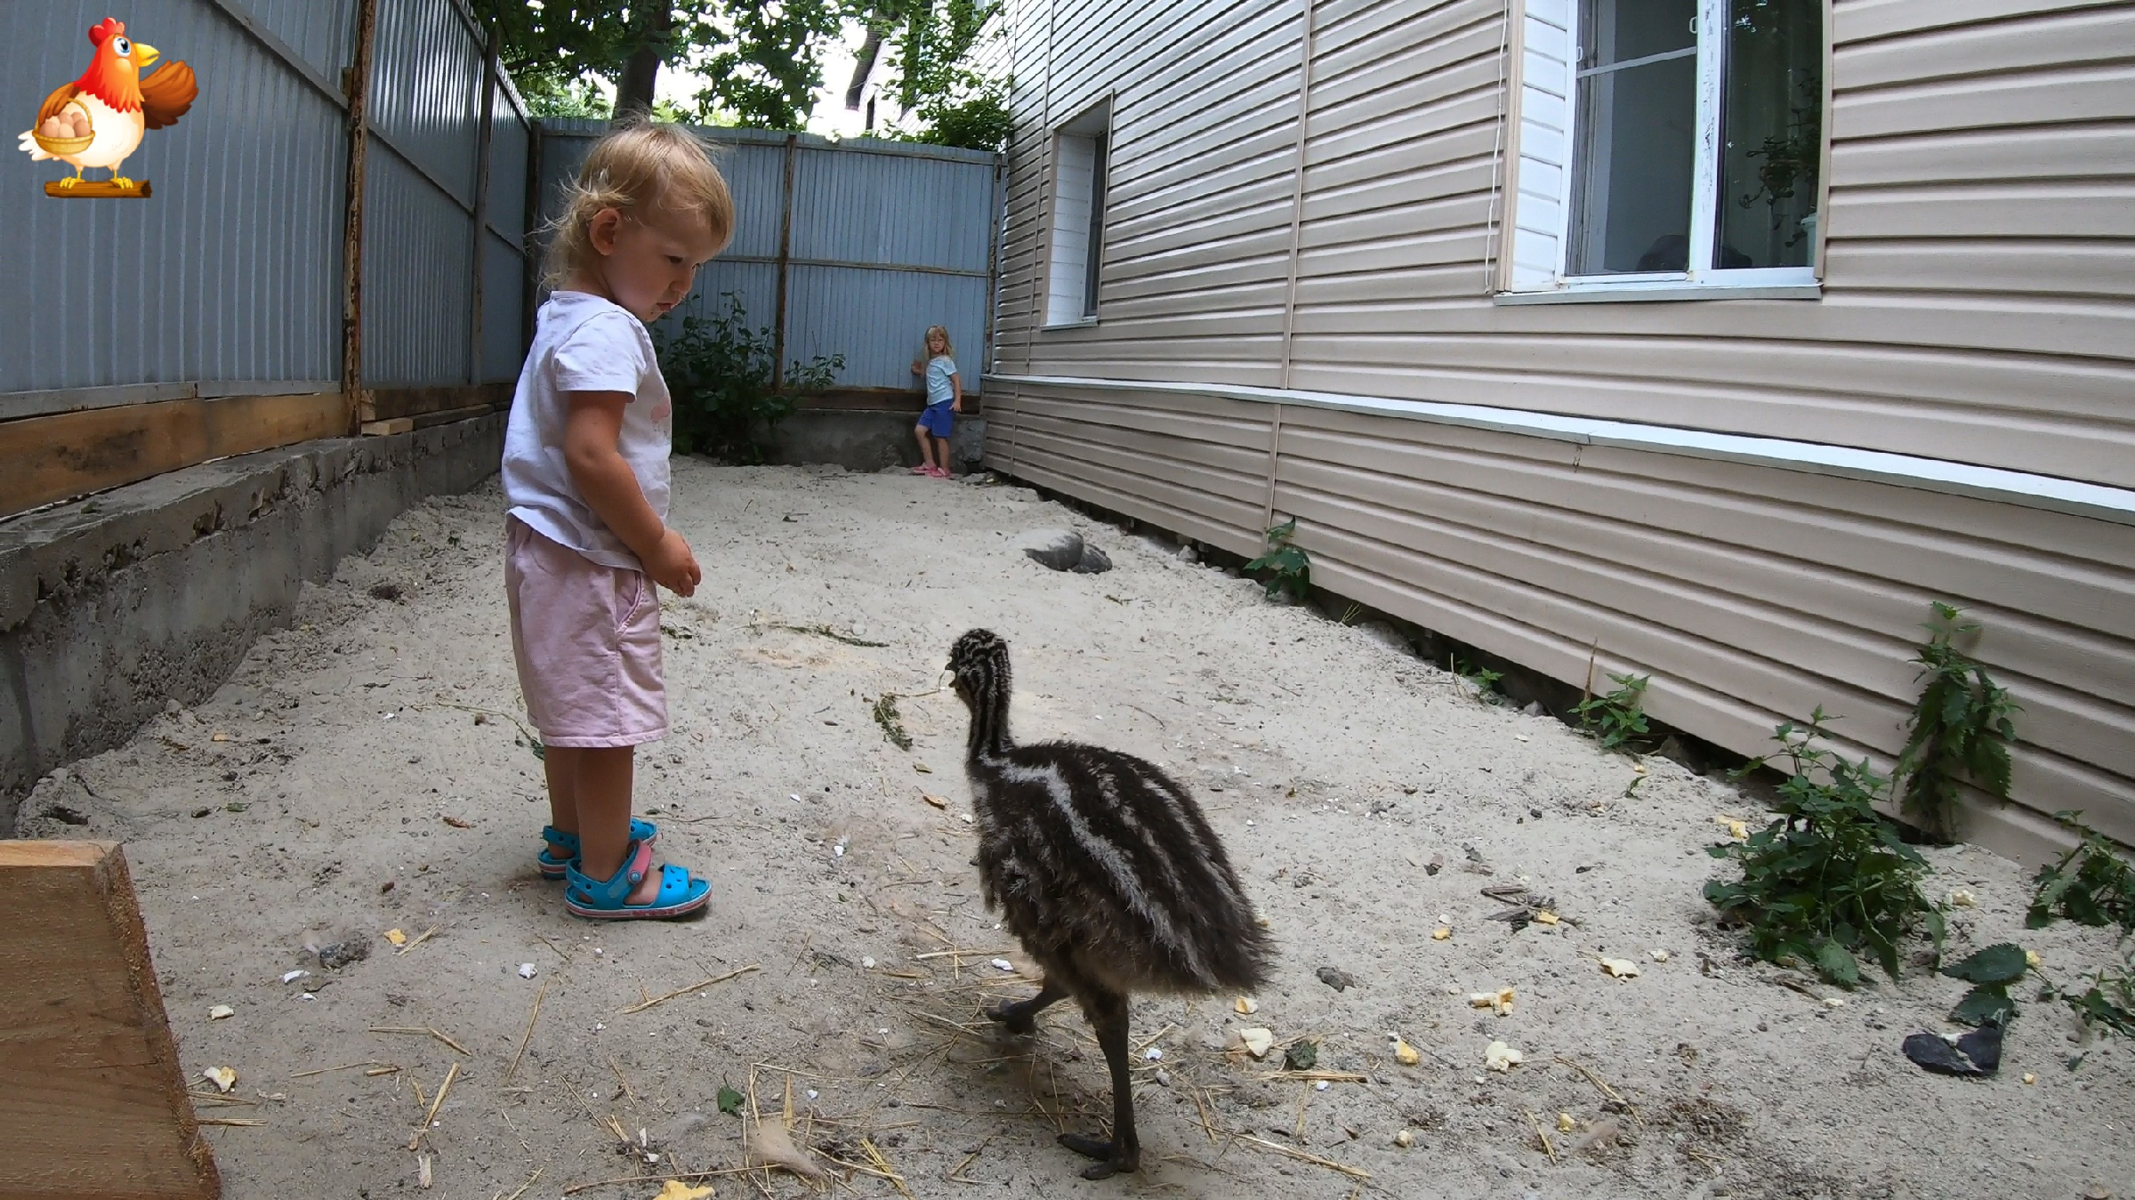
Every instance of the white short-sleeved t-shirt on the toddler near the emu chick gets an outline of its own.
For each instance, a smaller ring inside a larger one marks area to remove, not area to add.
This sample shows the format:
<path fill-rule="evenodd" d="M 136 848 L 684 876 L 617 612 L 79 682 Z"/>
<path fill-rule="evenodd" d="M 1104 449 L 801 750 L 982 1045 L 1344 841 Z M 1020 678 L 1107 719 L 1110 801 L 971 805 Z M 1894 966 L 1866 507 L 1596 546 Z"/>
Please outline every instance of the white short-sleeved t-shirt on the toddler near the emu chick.
<path fill-rule="evenodd" d="M 540 536 L 626 570 L 645 570 L 594 508 L 564 463 L 564 421 L 574 391 L 628 391 L 623 461 L 645 502 L 666 521 L 668 455 L 675 453 L 675 404 L 653 340 L 630 310 L 589 293 L 553 293 L 534 322 L 534 348 L 519 372 L 512 416 L 504 427 L 504 502 Z"/>

